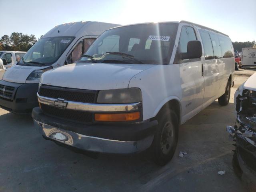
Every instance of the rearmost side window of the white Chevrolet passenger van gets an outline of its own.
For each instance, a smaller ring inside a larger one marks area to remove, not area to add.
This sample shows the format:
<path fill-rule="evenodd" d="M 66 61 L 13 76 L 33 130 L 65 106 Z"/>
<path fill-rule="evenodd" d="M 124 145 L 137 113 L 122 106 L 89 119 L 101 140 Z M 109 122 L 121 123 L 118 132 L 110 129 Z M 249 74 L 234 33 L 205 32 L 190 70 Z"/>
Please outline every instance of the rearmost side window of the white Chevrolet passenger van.
<path fill-rule="evenodd" d="M 232 42 L 229 37 L 218 34 L 220 40 L 220 47 L 222 51 L 222 58 L 234 57 L 234 50 L 232 49 Z"/>

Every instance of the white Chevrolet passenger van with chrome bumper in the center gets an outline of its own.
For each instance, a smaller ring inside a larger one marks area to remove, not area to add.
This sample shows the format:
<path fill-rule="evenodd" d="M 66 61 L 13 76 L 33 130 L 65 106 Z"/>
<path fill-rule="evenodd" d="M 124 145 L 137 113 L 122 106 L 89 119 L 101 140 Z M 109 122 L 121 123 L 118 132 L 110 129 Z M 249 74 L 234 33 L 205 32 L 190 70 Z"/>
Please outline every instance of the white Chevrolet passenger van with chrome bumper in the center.
<path fill-rule="evenodd" d="M 178 127 L 218 99 L 234 76 L 230 38 L 191 22 L 119 26 L 80 62 L 42 74 L 34 124 L 44 138 L 82 150 L 174 155 Z"/>

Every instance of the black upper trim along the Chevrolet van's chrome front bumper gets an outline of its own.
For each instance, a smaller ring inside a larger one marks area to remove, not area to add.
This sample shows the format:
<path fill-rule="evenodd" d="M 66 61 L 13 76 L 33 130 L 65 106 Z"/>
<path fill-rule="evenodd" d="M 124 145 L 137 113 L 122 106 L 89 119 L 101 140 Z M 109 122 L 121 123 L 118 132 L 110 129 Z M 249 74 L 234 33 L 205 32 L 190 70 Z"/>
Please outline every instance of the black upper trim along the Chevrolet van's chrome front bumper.
<path fill-rule="evenodd" d="M 32 118 L 44 124 L 86 136 L 94 136 L 120 141 L 138 141 L 150 135 L 154 135 L 158 125 L 157 120 L 146 120 L 142 122 L 127 124 L 85 125 L 47 116 L 39 107 L 36 107 L 32 110 Z"/>

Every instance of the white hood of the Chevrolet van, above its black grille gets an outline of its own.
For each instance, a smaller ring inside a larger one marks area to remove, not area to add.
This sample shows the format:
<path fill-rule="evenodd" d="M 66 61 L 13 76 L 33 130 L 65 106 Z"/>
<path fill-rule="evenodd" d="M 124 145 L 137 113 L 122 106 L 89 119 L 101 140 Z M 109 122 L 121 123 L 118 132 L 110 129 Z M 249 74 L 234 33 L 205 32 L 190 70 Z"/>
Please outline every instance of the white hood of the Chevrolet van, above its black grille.
<path fill-rule="evenodd" d="M 76 63 L 44 72 L 41 83 L 87 90 L 128 88 L 130 79 L 154 65 Z"/>

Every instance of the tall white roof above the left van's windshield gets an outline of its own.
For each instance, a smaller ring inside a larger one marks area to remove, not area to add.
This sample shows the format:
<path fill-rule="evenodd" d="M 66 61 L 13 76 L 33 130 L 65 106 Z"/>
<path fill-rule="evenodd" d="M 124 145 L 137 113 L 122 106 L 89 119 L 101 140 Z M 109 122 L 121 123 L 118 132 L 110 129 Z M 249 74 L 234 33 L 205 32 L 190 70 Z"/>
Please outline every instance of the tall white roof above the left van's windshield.
<path fill-rule="evenodd" d="M 100 35 L 102 34 L 102 31 L 116 26 L 119 25 L 93 21 L 70 22 L 55 26 L 50 31 L 48 31 L 42 38 L 56 36 L 82 37 L 86 35 Z"/>

